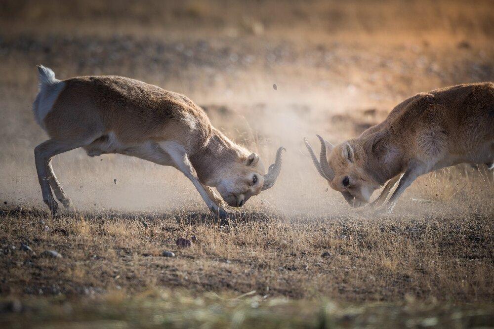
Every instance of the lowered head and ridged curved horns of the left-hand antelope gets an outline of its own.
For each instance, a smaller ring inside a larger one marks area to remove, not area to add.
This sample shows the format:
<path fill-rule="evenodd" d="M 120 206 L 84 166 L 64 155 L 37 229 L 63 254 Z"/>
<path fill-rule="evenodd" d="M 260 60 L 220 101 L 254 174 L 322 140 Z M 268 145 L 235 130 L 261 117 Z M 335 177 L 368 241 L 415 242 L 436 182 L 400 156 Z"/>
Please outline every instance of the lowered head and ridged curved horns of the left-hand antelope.
<path fill-rule="evenodd" d="M 278 149 L 276 160 L 269 166 L 266 174 L 264 174 L 264 165 L 257 154 L 252 153 L 246 158 L 240 158 L 216 186 L 223 200 L 229 206 L 241 207 L 251 196 L 273 187 L 281 171 L 283 150 L 285 150 L 284 147 Z"/>

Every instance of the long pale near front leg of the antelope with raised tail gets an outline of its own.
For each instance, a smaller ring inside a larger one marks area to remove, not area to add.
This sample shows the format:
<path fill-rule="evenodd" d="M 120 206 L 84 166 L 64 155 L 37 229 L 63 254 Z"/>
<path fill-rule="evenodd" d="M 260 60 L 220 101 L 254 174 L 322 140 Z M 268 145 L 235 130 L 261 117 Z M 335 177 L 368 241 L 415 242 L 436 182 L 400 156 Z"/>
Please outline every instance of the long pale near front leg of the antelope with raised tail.
<path fill-rule="evenodd" d="M 194 184 L 207 207 L 220 218 L 226 218 L 228 213 L 211 200 L 206 189 L 199 181 L 196 169 L 191 164 L 185 148 L 176 142 L 164 142 L 160 143 L 160 146 L 170 155 L 176 167 Z"/>

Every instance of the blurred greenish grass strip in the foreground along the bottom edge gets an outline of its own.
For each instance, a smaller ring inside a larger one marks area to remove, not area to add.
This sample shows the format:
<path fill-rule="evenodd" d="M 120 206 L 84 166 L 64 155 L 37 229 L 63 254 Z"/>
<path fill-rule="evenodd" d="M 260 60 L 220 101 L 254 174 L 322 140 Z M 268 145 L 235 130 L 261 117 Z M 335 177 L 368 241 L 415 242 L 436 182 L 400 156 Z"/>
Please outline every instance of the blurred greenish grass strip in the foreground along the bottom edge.
<path fill-rule="evenodd" d="M 1 318 L 3 326 L 22 328 L 482 328 L 492 325 L 489 304 L 452 305 L 408 298 L 400 303 L 334 303 L 268 296 L 205 293 L 182 289 L 148 290 L 125 297 L 32 297 L 20 303 L 3 299 L 3 309 L 22 312 Z"/>

